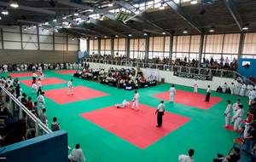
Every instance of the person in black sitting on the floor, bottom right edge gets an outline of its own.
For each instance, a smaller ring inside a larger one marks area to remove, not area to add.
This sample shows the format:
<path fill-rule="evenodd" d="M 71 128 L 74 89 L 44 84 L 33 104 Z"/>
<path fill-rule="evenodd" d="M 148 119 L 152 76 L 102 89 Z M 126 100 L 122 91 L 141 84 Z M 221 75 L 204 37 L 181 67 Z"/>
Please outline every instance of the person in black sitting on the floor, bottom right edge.
<path fill-rule="evenodd" d="M 237 162 L 240 159 L 240 149 L 234 147 L 234 153 L 230 153 L 227 156 L 217 153 L 218 159 L 213 159 L 214 162 Z"/>

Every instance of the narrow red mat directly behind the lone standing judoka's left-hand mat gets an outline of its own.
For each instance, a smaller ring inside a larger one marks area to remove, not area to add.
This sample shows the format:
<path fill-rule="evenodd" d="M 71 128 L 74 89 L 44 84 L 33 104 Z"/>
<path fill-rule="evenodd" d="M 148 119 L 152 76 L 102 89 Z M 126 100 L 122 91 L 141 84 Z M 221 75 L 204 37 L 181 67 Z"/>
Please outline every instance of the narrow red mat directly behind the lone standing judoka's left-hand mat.
<path fill-rule="evenodd" d="M 32 79 L 20 80 L 22 84 L 25 84 L 28 87 L 32 87 Z M 41 81 L 42 85 L 50 85 L 50 84 L 65 84 L 68 83 L 66 80 L 62 80 L 60 78 L 44 78 Z M 38 84 L 38 80 L 37 80 Z"/>

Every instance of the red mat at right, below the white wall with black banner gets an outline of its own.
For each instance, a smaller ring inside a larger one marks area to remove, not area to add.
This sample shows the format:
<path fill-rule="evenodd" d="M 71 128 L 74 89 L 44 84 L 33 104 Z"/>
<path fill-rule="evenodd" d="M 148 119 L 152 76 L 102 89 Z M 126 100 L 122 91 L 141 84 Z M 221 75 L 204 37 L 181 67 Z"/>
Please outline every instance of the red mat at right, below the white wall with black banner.
<path fill-rule="evenodd" d="M 174 102 L 187 105 L 190 107 L 201 108 L 203 110 L 207 110 L 210 107 L 217 104 L 219 101 L 223 100 L 223 98 L 210 96 L 210 101 L 205 101 L 206 95 L 196 94 L 196 93 L 187 92 L 183 90 L 176 90 L 176 92 L 177 92 L 177 95 L 174 95 Z M 169 91 L 156 94 L 156 95 L 151 95 L 151 96 L 160 98 L 162 100 L 170 101 Z"/>

